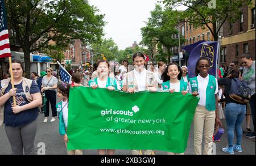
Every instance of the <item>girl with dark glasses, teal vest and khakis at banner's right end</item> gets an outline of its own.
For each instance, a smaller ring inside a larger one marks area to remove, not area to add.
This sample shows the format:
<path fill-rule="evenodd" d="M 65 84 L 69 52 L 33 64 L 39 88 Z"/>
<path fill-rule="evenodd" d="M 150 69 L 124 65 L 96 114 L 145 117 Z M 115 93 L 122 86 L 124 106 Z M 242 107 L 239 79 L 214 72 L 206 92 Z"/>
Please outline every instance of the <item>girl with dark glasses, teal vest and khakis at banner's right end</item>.
<path fill-rule="evenodd" d="M 193 96 L 199 96 L 200 100 L 196 107 L 193 120 L 194 126 L 194 151 L 195 154 L 202 154 L 202 139 L 204 133 L 204 154 L 212 154 L 212 136 L 214 124 L 222 126 L 218 118 L 218 82 L 217 79 L 209 75 L 209 60 L 201 57 L 196 62 L 196 77 L 189 82 L 189 91 Z M 203 132 L 204 130 L 204 132 Z"/>

